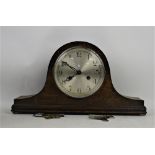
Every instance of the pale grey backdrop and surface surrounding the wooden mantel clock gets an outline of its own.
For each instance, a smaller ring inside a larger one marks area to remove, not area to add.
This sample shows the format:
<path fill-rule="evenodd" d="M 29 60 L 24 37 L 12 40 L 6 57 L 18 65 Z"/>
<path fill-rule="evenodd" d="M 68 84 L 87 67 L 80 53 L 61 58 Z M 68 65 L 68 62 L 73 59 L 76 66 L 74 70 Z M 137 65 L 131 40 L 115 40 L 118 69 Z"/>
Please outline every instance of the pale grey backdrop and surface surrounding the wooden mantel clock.
<path fill-rule="evenodd" d="M 146 116 L 87 116 L 44 120 L 10 112 L 13 99 L 39 92 L 53 53 L 71 41 L 98 46 L 108 58 L 114 87 L 145 100 Z M 2 27 L 2 127 L 153 127 L 153 27 Z"/>

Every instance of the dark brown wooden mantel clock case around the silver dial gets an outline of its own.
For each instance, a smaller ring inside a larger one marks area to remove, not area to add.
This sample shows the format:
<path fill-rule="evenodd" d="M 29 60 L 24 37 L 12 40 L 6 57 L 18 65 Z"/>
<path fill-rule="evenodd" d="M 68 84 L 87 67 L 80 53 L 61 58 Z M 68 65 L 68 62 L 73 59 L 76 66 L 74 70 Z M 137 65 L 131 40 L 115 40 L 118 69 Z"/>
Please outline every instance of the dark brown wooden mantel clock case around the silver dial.
<path fill-rule="evenodd" d="M 106 75 L 101 88 L 93 95 L 75 99 L 62 93 L 54 81 L 53 66 L 58 56 L 66 49 L 81 46 L 94 50 L 105 65 Z M 60 47 L 53 55 L 44 88 L 36 95 L 14 100 L 13 113 L 57 113 L 57 114 L 115 114 L 145 115 L 144 101 L 120 95 L 113 87 L 107 58 L 96 46 L 87 42 L 71 42 Z"/>

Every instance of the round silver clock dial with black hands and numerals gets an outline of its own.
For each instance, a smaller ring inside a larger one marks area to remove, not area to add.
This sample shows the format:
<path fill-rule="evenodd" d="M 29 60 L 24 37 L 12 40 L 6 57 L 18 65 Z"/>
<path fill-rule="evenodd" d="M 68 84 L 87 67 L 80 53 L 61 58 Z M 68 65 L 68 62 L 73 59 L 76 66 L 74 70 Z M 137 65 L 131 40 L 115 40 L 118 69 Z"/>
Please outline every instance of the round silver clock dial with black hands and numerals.
<path fill-rule="evenodd" d="M 58 88 L 75 98 L 94 94 L 101 87 L 104 77 L 101 58 L 88 48 L 69 48 L 58 57 L 54 65 L 54 79 Z"/>

